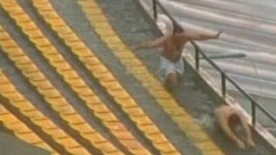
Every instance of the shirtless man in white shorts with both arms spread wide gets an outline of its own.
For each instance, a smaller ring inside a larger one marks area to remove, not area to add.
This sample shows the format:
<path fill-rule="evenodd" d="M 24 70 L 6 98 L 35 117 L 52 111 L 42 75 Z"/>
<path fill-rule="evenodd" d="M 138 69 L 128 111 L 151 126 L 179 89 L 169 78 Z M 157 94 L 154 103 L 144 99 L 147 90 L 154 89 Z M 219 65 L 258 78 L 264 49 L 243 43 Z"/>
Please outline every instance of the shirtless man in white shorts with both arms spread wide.
<path fill-rule="evenodd" d="M 204 33 L 189 33 L 184 32 L 181 28 L 164 34 L 158 39 L 141 43 L 134 47 L 135 50 L 144 48 L 163 48 L 164 52 L 161 54 L 160 69 L 164 81 L 168 88 L 175 88 L 178 84 L 178 79 L 184 73 L 184 63 L 181 59 L 182 50 L 188 41 L 201 41 L 206 39 L 218 39 L 221 31 L 217 34 Z"/>

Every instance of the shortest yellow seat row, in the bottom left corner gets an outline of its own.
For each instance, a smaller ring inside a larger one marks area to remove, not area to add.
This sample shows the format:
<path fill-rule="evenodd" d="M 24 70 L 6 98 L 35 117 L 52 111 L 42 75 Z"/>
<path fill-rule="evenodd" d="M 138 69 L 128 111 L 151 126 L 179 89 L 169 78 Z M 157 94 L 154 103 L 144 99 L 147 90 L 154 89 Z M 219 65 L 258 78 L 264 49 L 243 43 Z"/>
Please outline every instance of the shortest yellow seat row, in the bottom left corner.
<path fill-rule="evenodd" d="M 21 122 L 14 114 L 6 109 L 0 103 L 0 121 L 3 125 L 11 130 L 14 136 L 20 138 L 27 143 L 34 146 L 41 147 L 51 152 L 52 155 L 59 155 L 52 147 L 50 147 L 43 139 L 41 139 L 36 133 L 32 132 L 28 126 Z"/>

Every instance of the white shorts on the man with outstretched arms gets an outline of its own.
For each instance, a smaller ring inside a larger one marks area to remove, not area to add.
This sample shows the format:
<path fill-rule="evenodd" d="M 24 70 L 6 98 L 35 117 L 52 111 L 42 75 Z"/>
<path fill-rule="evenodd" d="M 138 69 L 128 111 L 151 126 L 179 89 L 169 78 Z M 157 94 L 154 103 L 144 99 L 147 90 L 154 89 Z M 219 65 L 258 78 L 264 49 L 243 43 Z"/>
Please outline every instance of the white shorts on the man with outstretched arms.
<path fill-rule="evenodd" d="M 168 74 L 170 73 L 178 73 L 178 74 L 184 73 L 184 62 L 182 59 L 180 59 L 177 62 L 172 62 L 166 59 L 164 56 L 161 56 L 160 71 L 161 71 L 162 79 L 166 81 Z"/>

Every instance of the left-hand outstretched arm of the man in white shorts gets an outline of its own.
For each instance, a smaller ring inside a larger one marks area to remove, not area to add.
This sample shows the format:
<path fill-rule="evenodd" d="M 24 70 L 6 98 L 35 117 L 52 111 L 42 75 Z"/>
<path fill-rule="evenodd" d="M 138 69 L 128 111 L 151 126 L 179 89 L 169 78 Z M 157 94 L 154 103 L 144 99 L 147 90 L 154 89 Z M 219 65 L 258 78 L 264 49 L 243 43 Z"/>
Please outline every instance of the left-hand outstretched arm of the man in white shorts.
<path fill-rule="evenodd" d="M 170 36 L 170 34 L 164 34 L 164 36 L 152 40 L 152 41 L 146 41 L 144 43 L 141 43 L 139 45 L 135 45 L 133 46 L 134 50 L 141 50 L 141 49 L 146 49 L 146 48 L 160 48 L 164 42 L 166 41 L 166 39 L 168 39 L 168 37 Z"/>

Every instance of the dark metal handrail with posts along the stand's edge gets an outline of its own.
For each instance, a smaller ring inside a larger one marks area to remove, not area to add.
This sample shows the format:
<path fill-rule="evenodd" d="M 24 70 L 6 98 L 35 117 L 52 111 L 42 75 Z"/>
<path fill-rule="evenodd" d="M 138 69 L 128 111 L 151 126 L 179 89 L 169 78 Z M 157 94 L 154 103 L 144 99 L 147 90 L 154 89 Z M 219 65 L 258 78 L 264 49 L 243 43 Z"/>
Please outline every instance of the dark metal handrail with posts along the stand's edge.
<path fill-rule="evenodd" d="M 177 23 L 177 21 L 175 21 L 175 19 L 173 19 L 170 16 L 170 14 L 168 14 L 166 9 L 162 6 L 162 4 L 158 0 L 152 0 L 152 4 L 153 4 L 153 14 L 154 14 L 155 21 L 157 20 L 157 6 L 159 6 L 161 11 L 164 12 L 164 14 L 166 14 L 166 16 L 168 16 L 168 18 L 172 21 L 173 31 L 175 32 L 175 28 L 181 28 L 179 23 Z M 183 29 L 183 28 L 181 28 L 181 29 Z M 215 64 L 204 52 L 202 52 L 201 48 L 199 47 L 199 45 L 197 45 L 197 43 L 195 43 L 195 41 L 190 41 L 190 42 L 192 43 L 192 45 L 195 48 L 195 68 L 196 68 L 196 70 L 199 71 L 199 61 L 200 61 L 200 59 L 203 58 L 208 63 L 210 63 L 210 65 L 212 65 L 221 74 L 221 94 L 224 98 L 226 97 L 226 80 L 227 80 L 232 85 L 234 85 L 237 88 L 237 90 L 239 90 L 239 92 L 241 92 L 250 101 L 253 127 L 255 127 L 255 124 L 256 124 L 256 116 L 257 116 L 256 115 L 256 107 L 258 107 L 259 110 L 264 112 L 264 114 L 266 114 L 266 116 L 268 116 L 268 118 L 270 118 L 274 123 L 276 123 L 276 118 L 275 118 L 275 116 L 273 116 L 273 114 L 270 114 L 270 112 L 263 105 L 257 103 L 253 99 L 252 96 L 250 96 L 246 91 L 244 91 L 242 89 L 242 87 L 237 85 L 237 83 L 235 81 L 233 81 L 233 79 L 231 79 L 230 76 L 228 76 L 223 70 L 221 70 L 221 68 L 219 68 L 219 66 L 217 66 L 217 64 Z M 201 54 L 202 57 L 200 57 L 199 54 Z"/>

